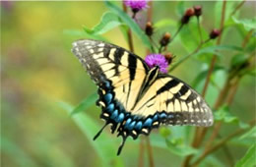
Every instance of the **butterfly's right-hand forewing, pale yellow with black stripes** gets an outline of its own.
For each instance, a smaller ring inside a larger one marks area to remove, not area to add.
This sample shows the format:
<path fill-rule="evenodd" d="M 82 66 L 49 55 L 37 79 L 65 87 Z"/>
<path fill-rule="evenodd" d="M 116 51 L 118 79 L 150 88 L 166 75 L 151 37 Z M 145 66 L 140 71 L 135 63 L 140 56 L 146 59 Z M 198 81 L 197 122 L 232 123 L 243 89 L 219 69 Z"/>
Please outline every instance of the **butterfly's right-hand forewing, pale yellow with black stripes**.
<path fill-rule="evenodd" d="M 158 114 L 160 119 L 152 124 L 213 125 L 213 113 L 199 93 L 175 77 L 160 74 L 137 103 L 133 114 Z"/>

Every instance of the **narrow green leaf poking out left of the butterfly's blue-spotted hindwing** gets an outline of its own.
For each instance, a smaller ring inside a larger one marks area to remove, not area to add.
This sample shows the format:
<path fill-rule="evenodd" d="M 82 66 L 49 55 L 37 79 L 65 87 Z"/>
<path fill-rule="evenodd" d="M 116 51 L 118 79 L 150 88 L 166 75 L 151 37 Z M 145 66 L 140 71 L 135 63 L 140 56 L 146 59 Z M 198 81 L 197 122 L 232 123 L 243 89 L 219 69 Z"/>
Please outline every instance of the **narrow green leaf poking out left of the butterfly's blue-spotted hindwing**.
<path fill-rule="evenodd" d="M 74 110 L 71 112 L 71 116 L 88 109 L 91 105 L 95 104 L 96 99 L 97 99 L 96 93 L 85 98 L 76 108 L 74 108 Z"/>

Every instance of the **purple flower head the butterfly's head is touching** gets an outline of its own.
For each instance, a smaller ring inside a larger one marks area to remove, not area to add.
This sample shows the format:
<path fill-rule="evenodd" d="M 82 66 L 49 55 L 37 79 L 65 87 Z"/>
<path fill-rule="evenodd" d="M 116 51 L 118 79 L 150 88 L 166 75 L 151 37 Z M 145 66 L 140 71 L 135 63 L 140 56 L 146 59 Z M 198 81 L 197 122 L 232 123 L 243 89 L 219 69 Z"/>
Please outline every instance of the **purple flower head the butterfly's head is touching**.
<path fill-rule="evenodd" d="M 167 73 L 168 62 L 161 54 L 150 54 L 146 56 L 145 62 L 152 69 L 156 66 L 160 67 L 161 73 Z"/>

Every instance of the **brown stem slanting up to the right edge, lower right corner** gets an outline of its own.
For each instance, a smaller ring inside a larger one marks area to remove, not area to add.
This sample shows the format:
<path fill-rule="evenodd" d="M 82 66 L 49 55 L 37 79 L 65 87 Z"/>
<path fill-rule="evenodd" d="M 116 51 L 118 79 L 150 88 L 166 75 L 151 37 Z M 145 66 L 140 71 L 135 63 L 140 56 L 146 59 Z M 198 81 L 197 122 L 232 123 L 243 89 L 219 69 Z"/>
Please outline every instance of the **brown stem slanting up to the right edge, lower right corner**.
<path fill-rule="evenodd" d="M 206 149 L 205 152 L 194 163 L 191 164 L 191 166 L 198 165 L 202 160 L 205 159 L 206 156 L 208 156 L 210 153 L 212 153 L 212 152 L 216 151 L 217 149 L 219 149 L 220 147 L 222 147 L 229 139 L 233 139 L 234 137 L 249 131 L 253 126 L 255 126 L 255 122 L 256 122 L 256 120 L 252 120 L 249 123 L 250 124 L 249 128 L 239 129 L 239 130 L 233 132 L 232 134 L 229 134 L 226 138 L 222 139 L 221 141 L 219 141 L 217 144 L 215 144 L 211 148 Z"/>

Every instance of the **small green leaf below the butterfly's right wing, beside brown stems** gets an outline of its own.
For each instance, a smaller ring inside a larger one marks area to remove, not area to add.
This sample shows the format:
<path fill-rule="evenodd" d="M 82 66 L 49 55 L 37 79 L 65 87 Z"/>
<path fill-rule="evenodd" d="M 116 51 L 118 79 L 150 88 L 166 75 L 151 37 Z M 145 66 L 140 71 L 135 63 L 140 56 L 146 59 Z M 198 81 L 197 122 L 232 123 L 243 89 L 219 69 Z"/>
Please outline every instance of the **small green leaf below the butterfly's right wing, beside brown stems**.
<path fill-rule="evenodd" d="M 172 153 L 179 156 L 187 156 L 198 152 L 197 149 L 194 149 L 188 145 L 183 144 L 182 139 L 165 139 L 165 142 L 169 150 Z"/>

